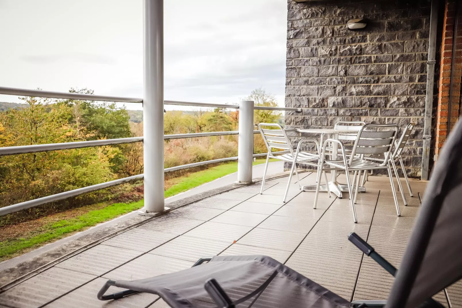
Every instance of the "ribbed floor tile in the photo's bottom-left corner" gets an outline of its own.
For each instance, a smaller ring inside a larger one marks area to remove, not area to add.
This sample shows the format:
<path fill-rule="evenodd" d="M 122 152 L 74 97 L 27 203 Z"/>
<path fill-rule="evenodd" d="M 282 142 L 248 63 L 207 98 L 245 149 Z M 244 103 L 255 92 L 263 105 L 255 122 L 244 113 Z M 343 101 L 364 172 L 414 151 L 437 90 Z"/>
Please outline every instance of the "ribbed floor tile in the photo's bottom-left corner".
<path fill-rule="evenodd" d="M 52 267 L 1 293 L 0 302 L 15 308 L 36 308 L 94 278 L 94 275 Z"/>

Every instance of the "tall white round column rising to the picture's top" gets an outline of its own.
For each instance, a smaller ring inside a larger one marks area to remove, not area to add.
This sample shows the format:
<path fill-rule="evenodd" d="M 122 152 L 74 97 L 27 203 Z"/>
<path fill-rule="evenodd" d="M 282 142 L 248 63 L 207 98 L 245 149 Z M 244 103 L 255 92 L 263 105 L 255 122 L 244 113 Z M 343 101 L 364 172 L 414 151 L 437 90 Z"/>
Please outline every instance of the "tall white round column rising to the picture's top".
<path fill-rule="evenodd" d="M 144 0 L 144 202 L 141 215 L 164 208 L 164 0 Z"/>

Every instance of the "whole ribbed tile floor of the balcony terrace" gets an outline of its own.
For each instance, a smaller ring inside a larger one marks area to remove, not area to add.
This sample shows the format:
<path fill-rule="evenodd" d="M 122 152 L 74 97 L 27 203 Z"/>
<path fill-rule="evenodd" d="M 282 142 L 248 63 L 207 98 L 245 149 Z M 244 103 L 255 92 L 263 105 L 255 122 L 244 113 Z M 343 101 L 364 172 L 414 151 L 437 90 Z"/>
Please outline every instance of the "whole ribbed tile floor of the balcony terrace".
<path fill-rule="evenodd" d="M 107 279 L 179 271 L 217 254 L 269 255 L 348 300 L 386 299 L 393 278 L 364 257 L 347 235 L 356 232 L 398 266 L 426 182 L 411 180 L 414 197 L 407 195 L 409 205 L 401 204 L 402 216 L 397 217 L 389 179 L 369 177 L 366 192 L 358 197 L 355 224 L 346 197 L 321 193 L 313 209 L 314 193 L 300 191 L 296 179 L 290 201 L 283 203 L 286 181 L 286 174 L 267 180 L 263 195 L 258 181 L 230 185 L 190 197 L 163 216 L 119 222 L 123 228 L 112 234 L 95 231 L 93 238 L 101 239 L 4 286 L 0 307 L 168 307 L 152 294 L 110 302 L 97 300 L 96 294 Z M 315 173 L 301 173 L 300 182 L 314 184 Z M 462 285 L 448 292 L 452 307 L 460 307 Z M 443 294 L 438 300 L 447 303 Z"/>

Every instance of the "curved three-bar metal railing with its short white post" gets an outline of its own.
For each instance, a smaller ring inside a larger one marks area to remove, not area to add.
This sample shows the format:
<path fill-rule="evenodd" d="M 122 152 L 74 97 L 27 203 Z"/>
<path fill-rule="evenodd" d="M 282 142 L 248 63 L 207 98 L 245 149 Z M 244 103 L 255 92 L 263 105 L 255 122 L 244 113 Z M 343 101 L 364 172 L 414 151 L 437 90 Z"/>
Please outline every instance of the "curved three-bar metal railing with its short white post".
<path fill-rule="evenodd" d="M 110 101 L 110 102 L 129 102 L 129 103 L 142 103 L 142 99 L 137 98 L 123 98 L 116 96 L 101 96 L 93 94 L 80 94 L 80 93 L 67 93 L 67 92 L 50 92 L 42 90 L 28 90 L 18 88 L 0 87 L 0 94 L 7 95 L 19 95 L 19 96 L 35 96 L 45 97 L 53 99 L 78 99 L 78 100 L 94 100 L 94 101 Z M 178 102 L 178 101 L 164 101 L 166 105 L 187 105 L 187 106 L 201 106 L 201 107 L 220 107 L 220 108 L 239 108 L 243 113 L 240 115 L 241 119 L 246 119 L 246 123 L 240 123 L 238 131 L 223 131 L 223 132 L 206 132 L 206 133 L 192 133 L 192 134 L 176 134 L 176 135 L 164 135 L 164 140 L 179 139 L 179 138 L 195 138 L 204 136 L 227 136 L 227 135 L 239 135 L 239 143 L 241 146 L 239 149 L 239 155 L 236 157 L 221 158 L 217 160 L 207 160 L 197 163 L 175 166 L 170 168 L 164 168 L 164 172 L 172 172 L 187 168 L 193 168 L 196 166 L 203 166 L 208 164 L 214 164 L 230 160 L 238 160 L 238 182 L 248 183 L 252 180 L 252 160 L 253 157 L 266 156 L 267 154 L 252 154 L 253 153 L 253 134 L 258 134 L 258 130 L 253 128 L 253 110 L 282 110 L 282 111 L 301 111 L 300 108 L 285 108 L 285 107 L 262 107 L 254 106 L 253 102 L 241 102 L 241 105 L 225 105 L 225 104 L 209 104 L 209 103 L 193 103 L 193 102 Z M 244 106 L 244 108 L 240 108 Z M 296 131 L 296 129 L 290 129 Z M 14 155 L 14 154 L 26 154 L 26 153 L 39 153 L 54 150 L 66 150 L 73 148 L 88 148 L 98 147 L 106 145 L 116 145 L 133 142 L 144 142 L 144 137 L 132 137 L 132 138 L 118 138 L 118 139 L 106 139 L 106 140 L 93 140 L 93 141 L 81 141 L 81 142 L 63 142 L 63 143 L 51 143 L 51 144 L 37 144 L 27 146 L 16 146 L 16 147 L 4 147 L 0 148 L 0 156 Z M 243 152 L 245 148 L 246 152 Z M 248 152 L 248 153 L 247 153 Z M 276 152 L 275 154 L 284 154 L 287 151 Z M 146 171 L 145 171 L 146 173 Z M 135 180 L 145 178 L 145 173 L 123 178 L 116 179 L 113 181 L 91 185 L 72 191 L 65 191 L 55 195 L 41 197 L 34 200 L 29 200 L 6 207 L 0 208 L 0 216 L 11 214 L 20 210 L 30 209 L 37 205 L 42 205 L 49 202 L 59 201 L 67 199 L 69 197 L 75 197 L 84 193 L 101 190 L 104 188 L 112 187 L 115 185 L 121 185 Z M 146 191 L 146 190 L 145 190 Z"/>

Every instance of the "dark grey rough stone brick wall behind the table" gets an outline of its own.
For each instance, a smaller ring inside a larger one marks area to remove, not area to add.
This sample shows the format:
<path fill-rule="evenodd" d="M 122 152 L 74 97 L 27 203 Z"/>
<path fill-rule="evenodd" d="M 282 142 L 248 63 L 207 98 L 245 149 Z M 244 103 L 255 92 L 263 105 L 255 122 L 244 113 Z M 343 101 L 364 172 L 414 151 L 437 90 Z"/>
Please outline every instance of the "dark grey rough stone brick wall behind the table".
<path fill-rule="evenodd" d="M 426 0 L 288 0 L 286 128 L 416 123 L 405 148 L 420 176 L 430 6 Z M 346 22 L 367 18 L 365 30 Z M 292 134 L 294 145 L 301 138 Z M 401 136 L 401 131 L 400 131 Z"/>

